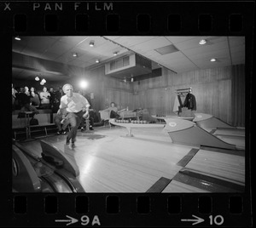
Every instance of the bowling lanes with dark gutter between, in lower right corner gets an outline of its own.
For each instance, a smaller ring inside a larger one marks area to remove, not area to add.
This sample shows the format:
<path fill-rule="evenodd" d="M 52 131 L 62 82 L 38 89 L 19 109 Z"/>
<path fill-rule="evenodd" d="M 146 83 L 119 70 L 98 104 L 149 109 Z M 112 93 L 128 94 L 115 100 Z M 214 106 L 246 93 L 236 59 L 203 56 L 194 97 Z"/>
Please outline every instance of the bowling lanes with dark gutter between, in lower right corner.
<path fill-rule="evenodd" d="M 173 177 L 163 192 L 243 192 L 244 151 L 204 147 Z"/>

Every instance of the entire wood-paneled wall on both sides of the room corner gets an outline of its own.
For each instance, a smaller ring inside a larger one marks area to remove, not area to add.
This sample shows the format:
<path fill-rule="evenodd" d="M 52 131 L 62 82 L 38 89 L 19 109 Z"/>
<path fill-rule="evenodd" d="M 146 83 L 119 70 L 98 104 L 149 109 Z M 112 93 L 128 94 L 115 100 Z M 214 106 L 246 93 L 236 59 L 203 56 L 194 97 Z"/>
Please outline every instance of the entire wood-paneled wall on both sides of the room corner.
<path fill-rule="evenodd" d="M 134 83 L 124 83 L 117 78 L 105 76 L 104 66 L 87 72 L 90 75 L 91 92 L 95 99 L 91 102 L 97 110 L 102 110 L 115 102 L 119 109 L 147 108 L 150 114 L 172 115 L 177 88 L 192 88 L 197 103 L 197 112 L 218 117 L 232 123 L 231 83 L 232 68 L 212 68 L 175 74 L 166 68 L 162 76 Z M 86 73 L 85 73 L 86 74 Z"/>

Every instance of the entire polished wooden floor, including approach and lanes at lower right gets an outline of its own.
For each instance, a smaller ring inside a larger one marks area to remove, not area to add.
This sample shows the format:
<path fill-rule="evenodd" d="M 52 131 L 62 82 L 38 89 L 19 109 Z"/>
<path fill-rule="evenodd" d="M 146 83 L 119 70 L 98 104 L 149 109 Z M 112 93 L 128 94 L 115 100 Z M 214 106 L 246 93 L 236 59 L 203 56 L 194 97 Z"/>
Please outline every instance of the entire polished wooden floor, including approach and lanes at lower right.
<path fill-rule="evenodd" d="M 245 151 L 175 145 L 161 129 L 137 128 L 132 130 L 135 137 L 126 134 L 122 127 L 78 131 L 73 149 L 65 145 L 66 135 L 44 140 L 78 164 L 79 181 L 86 192 L 243 191 Z M 23 145 L 41 157 L 39 140 Z"/>

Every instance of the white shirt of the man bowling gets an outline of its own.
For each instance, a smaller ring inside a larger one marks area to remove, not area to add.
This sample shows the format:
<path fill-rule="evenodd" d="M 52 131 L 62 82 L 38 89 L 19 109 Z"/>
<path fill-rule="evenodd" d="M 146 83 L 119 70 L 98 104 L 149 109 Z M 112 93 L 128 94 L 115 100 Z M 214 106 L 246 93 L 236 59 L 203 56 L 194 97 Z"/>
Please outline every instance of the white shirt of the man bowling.
<path fill-rule="evenodd" d="M 90 107 L 90 104 L 81 94 L 73 93 L 73 96 L 70 98 L 67 97 L 67 94 L 61 97 L 60 108 L 67 108 L 68 112 L 79 112 L 85 107 Z"/>

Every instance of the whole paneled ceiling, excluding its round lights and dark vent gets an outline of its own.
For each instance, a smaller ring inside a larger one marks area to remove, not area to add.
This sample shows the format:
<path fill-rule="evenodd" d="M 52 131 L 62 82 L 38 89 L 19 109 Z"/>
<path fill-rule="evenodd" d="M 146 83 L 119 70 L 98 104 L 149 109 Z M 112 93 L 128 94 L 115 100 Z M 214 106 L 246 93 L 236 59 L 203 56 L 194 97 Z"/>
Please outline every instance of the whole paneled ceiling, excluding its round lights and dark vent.
<path fill-rule="evenodd" d="M 208 43 L 199 45 L 201 39 L 207 39 Z M 93 48 L 89 46 L 90 41 L 95 43 Z M 180 51 L 162 55 L 154 50 L 172 43 Z M 177 72 L 189 71 L 189 69 L 194 71 L 198 67 L 206 69 L 215 66 L 230 66 L 230 54 L 233 64 L 245 62 L 245 37 L 26 36 L 21 37 L 20 41 L 13 38 L 14 52 L 88 69 L 98 65 L 95 62 L 96 59 L 99 59 L 101 63 L 114 60 L 125 53 L 131 53 L 129 49 L 156 62 L 154 67 L 157 67 L 159 63 L 172 71 L 175 71 L 173 67 L 176 67 Z M 115 51 L 119 52 L 117 56 L 113 56 Z M 77 52 L 79 57 L 74 58 L 73 52 Z M 209 61 L 213 57 L 218 59 L 215 65 Z"/>

